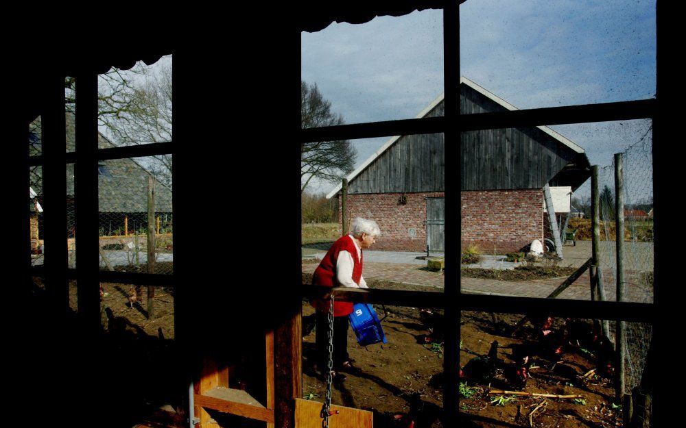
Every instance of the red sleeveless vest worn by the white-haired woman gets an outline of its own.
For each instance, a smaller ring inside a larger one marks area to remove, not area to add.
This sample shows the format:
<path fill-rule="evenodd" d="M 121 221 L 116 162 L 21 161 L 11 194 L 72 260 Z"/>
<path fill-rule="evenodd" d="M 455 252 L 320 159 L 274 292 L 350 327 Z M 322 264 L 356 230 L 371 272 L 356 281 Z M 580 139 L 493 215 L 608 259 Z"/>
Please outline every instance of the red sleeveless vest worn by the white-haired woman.
<path fill-rule="evenodd" d="M 320 262 L 314 271 L 314 275 L 312 275 L 313 286 L 340 286 L 336 278 L 336 262 L 338 262 L 338 253 L 340 251 L 348 251 L 353 257 L 353 281 L 355 281 L 355 284 L 359 284 L 359 279 L 362 277 L 362 250 L 359 251 L 359 260 L 357 260 L 355 242 L 353 242 L 350 236 L 346 235 L 333 242 L 327 255 L 324 255 L 322 262 Z M 328 313 L 329 307 L 331 307 L 331 301 L 329 300 L 313 299 L 311 303 L 316 310 L 321 312 Z M 346 316 L 352 312 L 353 303 L 344 301 L 333 302 L 333 316 Z"/>

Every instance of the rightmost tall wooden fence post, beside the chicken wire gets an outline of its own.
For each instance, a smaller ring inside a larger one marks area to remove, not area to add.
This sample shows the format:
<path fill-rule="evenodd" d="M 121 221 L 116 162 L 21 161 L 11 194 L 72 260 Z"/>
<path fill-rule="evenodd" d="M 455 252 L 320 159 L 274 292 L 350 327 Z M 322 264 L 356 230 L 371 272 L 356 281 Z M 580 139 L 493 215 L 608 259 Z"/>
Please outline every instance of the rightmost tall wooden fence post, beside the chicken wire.
<path fill-rule="evenodd" d="M 624 301 L 624 171 L 622 153 L 615 153 L 615 244 L 617 246 L 617 301 Z M 617 321 L 617 403 L 624 397 L 626 324 Z"/>

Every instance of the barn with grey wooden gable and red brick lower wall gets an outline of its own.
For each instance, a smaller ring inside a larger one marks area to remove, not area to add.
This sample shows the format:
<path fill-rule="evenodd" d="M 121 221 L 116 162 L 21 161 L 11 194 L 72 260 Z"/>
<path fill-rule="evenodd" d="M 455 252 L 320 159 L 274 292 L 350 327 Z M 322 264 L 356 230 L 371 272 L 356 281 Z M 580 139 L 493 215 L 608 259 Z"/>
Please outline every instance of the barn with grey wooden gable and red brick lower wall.
<path fill-rule="evenodd" d="M 460 78 L 462 114 L 517 110 L 466 77 Z M 417 117 L 443 115 L 440 95 Z M 517 251 L 543 239 L 543 188 L 567 193 L 590 177 L 584 149 L 549 127 L 462 133 L 462 247 Z M 444 249 L 443 134 L 397 136 L 348 175 L 347 219 L 371 218 L 381 227 L 375 249 Z M 327 197 L 342 198 L 342 186 Z M 569 211 L 569 200 L 563 210 Z M 561 212 L 560 209 L 556 212 Z M 339 223 L 342 215 L 339 215 Z"/>

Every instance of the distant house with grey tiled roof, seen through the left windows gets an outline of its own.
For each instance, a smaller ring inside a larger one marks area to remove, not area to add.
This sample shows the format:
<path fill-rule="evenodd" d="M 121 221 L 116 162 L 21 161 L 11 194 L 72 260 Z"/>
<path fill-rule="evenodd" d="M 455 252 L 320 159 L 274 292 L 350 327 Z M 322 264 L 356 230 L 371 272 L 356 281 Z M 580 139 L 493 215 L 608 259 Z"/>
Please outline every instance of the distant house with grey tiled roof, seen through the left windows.
<path fill-rule="evenodd" d="M 67 113 L 66 151 L 75 151 L 75 122 L 73 114 Z M 29 147 L 32 155 L 40 154 L 40 117 L 29 127 Z M 104 135 L 98 133 L 98 147 L 116 147 Z M 74 164 L 67 164 L 67 233 L 75 236 Z M 154 210 L 160 227 L 171 224 L 171 189 L 158 181 L 147 170 L 143 161 L 135 159 L 102 160 L 98 163 L 98 211 L 101 236 L 124 235 L 134 229 L 147 227 L 147 184 L 148 177 L 154 179 Z M 43 200 L 43 174 L 40 167 L 32 169 L 31 188 L 36 201 Z M 36 236 L 42 239 L 42 215 L 36 212 Z M 156 225 L 155 225 L 156 226 Z M 32 225 L 32 230 L 34 229 Z M 40 243 L 40 242 L 38 242 Z"/>

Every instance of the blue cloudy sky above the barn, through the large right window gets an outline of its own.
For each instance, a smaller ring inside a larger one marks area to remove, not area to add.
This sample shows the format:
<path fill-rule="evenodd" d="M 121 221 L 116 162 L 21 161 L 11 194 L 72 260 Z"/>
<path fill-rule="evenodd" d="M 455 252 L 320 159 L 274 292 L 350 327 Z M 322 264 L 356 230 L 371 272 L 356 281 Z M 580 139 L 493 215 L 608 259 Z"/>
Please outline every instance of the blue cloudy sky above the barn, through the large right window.
<path fill-rule="evenodd" d="M 301 40 L 303 80 L 316 83 L 346 123 L 414 118 L 443 92 L 441 10 L 332 23 Z M 460 66 L 461 75 L 521 109 L 649 99 L 655 2 L 468 0 L 460 5 Z M 649 127 L 647 120 L 552 126 L 600 166 L 643 146 Z M 353 140 L 356 166 L 386 140 Z M 647 144 L 650 151 L 650 134 Z"/>

